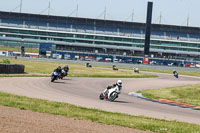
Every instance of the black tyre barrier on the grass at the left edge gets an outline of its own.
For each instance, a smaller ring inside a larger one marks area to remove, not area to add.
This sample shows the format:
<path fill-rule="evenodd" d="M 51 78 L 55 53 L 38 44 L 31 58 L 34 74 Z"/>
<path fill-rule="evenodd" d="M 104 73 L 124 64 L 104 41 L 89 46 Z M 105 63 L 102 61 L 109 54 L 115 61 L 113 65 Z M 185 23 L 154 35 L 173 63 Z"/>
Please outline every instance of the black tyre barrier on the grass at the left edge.
<path fill-rule="evenodd" d="M 24 65 L 17 64 L 0 64 L 0 74 L 17 74 L 24 73 Z"/>

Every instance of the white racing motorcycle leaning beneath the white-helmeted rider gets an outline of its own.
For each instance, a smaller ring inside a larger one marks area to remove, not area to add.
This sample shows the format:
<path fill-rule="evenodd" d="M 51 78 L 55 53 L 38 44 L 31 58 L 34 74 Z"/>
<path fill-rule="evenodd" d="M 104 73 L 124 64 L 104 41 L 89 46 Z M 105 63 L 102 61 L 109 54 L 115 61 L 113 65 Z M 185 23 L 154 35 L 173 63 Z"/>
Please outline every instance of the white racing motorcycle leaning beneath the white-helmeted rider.
<path fill-rule="evenodd" d="M 118 98 L 118 95 L 121 93 L 121 89 L 116 85 L 114 88 L 105 89 L 99 96 L 100 100 L 109 100 L 114 101 Z"/>

